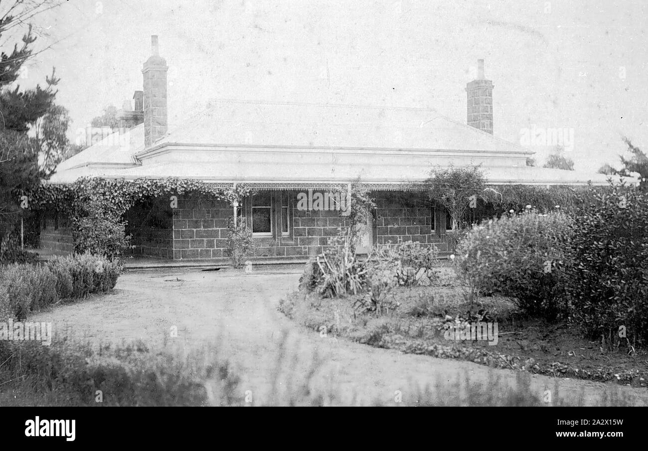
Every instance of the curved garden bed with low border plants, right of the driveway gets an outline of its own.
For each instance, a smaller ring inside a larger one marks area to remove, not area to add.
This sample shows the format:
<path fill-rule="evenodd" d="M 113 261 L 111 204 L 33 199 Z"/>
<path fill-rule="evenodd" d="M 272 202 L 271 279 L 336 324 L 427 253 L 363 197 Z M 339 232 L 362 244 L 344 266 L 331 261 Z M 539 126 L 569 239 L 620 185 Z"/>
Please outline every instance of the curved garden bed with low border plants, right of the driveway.
<path fill-rule="evenodd" d="M 527 318 L 513 299 L 505 297 L 480 297 L 471 308 L 452 270 L 440 270 L 441 286 L 394 288 L 388 295 L 395 306 L 391 310 L 360 313 L 354 304 L 365 299 L 365 293 L 321 298 L 305 290 L 289 295 L 279 310 L 320 334 L 404 353 L 470 360 L 549 376 L 647 385 L 645 351 L 629 354 L 623 348 L 605 349 L 600 341 L 586 340 L 580 330 L 567 323 Z M 483 321 L 497 323 L 496 345 L 489 345 L 487 340 L 446 340 L 443 325 L 452 323 L 457 314 L 465 318 L 469 311 L 481 311 L 485 313 Z"/>

